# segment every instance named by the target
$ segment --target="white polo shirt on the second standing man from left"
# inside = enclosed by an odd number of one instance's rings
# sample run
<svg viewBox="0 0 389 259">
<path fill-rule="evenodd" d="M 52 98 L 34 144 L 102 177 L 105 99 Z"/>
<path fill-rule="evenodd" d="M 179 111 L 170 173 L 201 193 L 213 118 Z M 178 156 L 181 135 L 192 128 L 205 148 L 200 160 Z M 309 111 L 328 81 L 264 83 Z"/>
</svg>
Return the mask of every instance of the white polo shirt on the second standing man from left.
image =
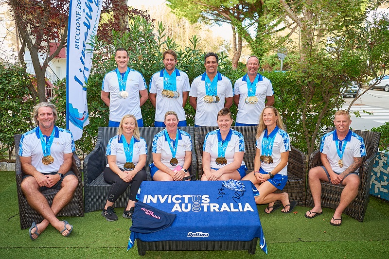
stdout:
<svg viewBox="0 0 389 259">
<path fill-rule="evenodd" d="M 165 113 L 167 111 L 175 111 L 178 116 L 179 121 L 185 121 L 185 111 L 182 107 L 182 92 L 189 92 L 189 78 L 188 75 L 176 69 L 176 86 L 177 92 L 179 93 L 178 98 L 168 98 L 162 96 L 163 91 L 163 71 L 165 69 L 160 70 L 155 73 L 150 79 L 150 93 L 157 94 L 156 107 L 155 107 L 155 121 L 164 121 Z"/>
</svg>

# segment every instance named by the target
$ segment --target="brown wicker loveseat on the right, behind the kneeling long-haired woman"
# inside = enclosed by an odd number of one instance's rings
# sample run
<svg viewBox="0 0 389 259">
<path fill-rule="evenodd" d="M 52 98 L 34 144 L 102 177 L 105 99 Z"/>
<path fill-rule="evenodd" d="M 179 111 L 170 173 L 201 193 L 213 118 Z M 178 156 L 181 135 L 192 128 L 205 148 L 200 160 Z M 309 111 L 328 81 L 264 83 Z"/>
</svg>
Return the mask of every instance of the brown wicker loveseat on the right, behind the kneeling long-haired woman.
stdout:
<svg viewBox="0 0 389 259">
<path fill-rule="evenodd" d="M 197 167 L 198 167 L 198 179 L 201 179 L 203 175 L 202 167 L 202 154 L 204 138 L 208 132 L 217 129 L 218 127 L 195 127 L 195 148 L 197 154 Z M 257 134 L 256 126 L 234 126 L 232 129 L 239 131 L 243 134 L 245 139 L 246 153 L 243 156 L 248 168 L 248 172 L 254 170 L 254 158 L 256 153 L 255 139 Z M 291 147 L 288 159 L 288 181 L 282 191 L 287 192 L 289 199 L 298 202 L 299 206 L 305 205 L 305 193 L 306 193 L 306 156 L 297 148 Z"/>
</svg>

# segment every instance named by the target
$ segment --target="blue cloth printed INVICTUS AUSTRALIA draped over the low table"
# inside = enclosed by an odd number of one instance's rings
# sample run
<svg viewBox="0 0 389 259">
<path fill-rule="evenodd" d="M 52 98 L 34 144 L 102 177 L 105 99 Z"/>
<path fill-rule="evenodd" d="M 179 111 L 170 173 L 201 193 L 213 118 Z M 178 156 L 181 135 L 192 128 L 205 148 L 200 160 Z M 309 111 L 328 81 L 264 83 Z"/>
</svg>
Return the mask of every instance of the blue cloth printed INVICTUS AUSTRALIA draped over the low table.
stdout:
<svg viewBox="0 0 389 259">
<path fill-rule="evenodd" d="M 137 238 L 154 242 L 251 241 L 258 237 L 267 254 L 254 200 L 254 191 L 258 193 L 258 190 L 250 181 L 240 182 L 245 185 L 245 191 L 230 190 L 223 186 L 223 181 L 143 181 L 139 201 L 177 216 L 173 224 L 154 233 L 131 231 L 128 249 Z M 142 210 L 153 215 L 153 220 L 159 217 L 158 213 Z M 134 217 L 133 220 L 133 224 L 139 224 Z"/>
</svg>

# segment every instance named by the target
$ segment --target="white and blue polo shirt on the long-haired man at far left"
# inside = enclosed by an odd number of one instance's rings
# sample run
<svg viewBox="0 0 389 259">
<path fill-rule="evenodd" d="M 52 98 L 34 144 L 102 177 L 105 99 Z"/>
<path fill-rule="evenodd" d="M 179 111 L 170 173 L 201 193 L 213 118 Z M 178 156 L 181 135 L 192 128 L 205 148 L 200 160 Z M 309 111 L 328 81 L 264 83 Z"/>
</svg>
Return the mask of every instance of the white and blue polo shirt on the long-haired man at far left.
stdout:
<svg viewBox="0 0 389 259">
<path fill-rule="evenodd" d="M 75 151 L 73 135 L 65 129 L 54 126 L 54 139 L 50 148 L 50 155 L 53 156 L 52 164 L 44 165 L 42 163 L 43 150 L 40 143 L 39 127 L 36 127 L 20 138 L 19 153 L 23 157 L 31 156 L 31 165 L 40 173 L 57 172 L 64 163 L 64 154 L 70 154 Z M 43 135 L 45 136 L 45 135 Z M 46 136 L 46 143 L 50 136 Z"/>
</svg>

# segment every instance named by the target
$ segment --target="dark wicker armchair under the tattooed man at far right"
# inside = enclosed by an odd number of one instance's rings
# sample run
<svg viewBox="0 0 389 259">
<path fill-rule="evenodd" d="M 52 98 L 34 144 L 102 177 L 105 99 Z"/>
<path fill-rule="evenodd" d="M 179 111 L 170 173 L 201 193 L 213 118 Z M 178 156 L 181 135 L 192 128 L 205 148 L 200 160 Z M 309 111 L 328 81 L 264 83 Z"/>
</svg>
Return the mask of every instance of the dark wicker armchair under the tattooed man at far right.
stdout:
<svg viewBox="0 0 389 259">
<path fill-rule="evenodd" d="M 326 133 L 331 132 L 333 130 L 335 130 L 334 127 L 328 127 Z M 366 146 L 366 156 L 363 157 L 362 165 L 359 168 L 359 177 L 361 178 L 361 185 L 359 187 L 358 194 L 343 212 L 349 215 L 350 217 L 353 217 L 357 221 L 362 222 L 365 217 L 366 209 L 369 203 L 371 170 L 375 156 L 377 154 L 378 143 L 380 140 L 381 133 L 361 130 L 353 130 L 353 132 L 363 138 Z M 321 165 L 322 164 L 320 160 L 320 152 L 319 150 L 316 150 L 309 157 L 308 169 Z M 340 194 L 342 193 L 343 189 L 344 186 L 342 185 L 321 182 L 321 207 L 336 209 L 336 207 L 339 205 Z M 314 206 L 312 193 L 309 189 L 309 185 L 307 187 L 306 206 Z"/>
</svg>

